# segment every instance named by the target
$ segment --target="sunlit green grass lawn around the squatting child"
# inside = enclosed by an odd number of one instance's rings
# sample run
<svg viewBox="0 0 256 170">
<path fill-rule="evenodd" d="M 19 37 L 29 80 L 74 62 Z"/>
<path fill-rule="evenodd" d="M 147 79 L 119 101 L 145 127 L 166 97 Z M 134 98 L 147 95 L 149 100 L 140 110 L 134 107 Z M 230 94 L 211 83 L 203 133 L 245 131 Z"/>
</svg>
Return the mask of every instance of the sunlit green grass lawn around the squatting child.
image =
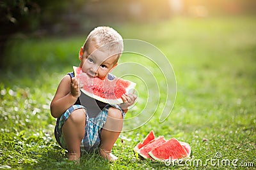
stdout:
<svg viewBox="0 0 256 170">
<path fill-rule="evenodd" d="M 83 155 L 79 165 L 68 162 L 65 150 L 54 139 L 55 120 L 49 104 L 61 77 L 78 65 L 77 52 L 86 35 L 15 39 L 6 53 L 6 69 L 0 74 L 0 168 L 255 169 L 255 18 L 172 18 L 152 25 L 115 28 L 124 38 L 152 43 L 170 60 L 177 79 L 177 97 L 166 121 L 159 123 L 161 110 L 157 110 L 143 127 L 122 132 L 123 139 L 118 138 L 113 148 L 119 157 L 115 163 L 97 154 Z M 148 63 L 148 67 L 154 70 L 155 65 Z M 138 89 L 137 107 L 127 114 L 136 115 L 143 110 L 143 101 L 151 97 L 140 86 Z M 166 96 L 163 91 L 160 94 L 163 103 Z M 152 104 L 146 113 L 152 114 L 156 107 Z M 186 141 L 191 145 L 193 159 L 203 164 L 221 152 L 221 159 L 238 159 L 238 166 L 251 162 L 253 167 L 218 166 L 218 162 L 216 166 L 210 162 L 206 166 L 165 166 L 142 160 L 132 148 L 150 130 L 156 136 Z"/>
</svg>

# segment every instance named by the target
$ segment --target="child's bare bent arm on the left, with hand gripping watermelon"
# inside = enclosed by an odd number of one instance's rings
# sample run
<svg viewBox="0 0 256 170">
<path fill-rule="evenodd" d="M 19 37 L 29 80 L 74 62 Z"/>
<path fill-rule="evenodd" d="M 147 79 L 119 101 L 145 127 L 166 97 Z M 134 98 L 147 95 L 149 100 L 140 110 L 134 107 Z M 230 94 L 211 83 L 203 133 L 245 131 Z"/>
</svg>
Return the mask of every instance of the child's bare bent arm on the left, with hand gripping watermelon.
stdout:
<svg viewBox="0 0 256 170">
<path fill-rule="evenodd" d="M 70 79 L 69 75 L 64 76 L 51 102 L 52 117 L 60 117 L 70 106 L 76 103 L 77 97 L 80 96 L 79 91 L 77 79 Z"/>
</svg>

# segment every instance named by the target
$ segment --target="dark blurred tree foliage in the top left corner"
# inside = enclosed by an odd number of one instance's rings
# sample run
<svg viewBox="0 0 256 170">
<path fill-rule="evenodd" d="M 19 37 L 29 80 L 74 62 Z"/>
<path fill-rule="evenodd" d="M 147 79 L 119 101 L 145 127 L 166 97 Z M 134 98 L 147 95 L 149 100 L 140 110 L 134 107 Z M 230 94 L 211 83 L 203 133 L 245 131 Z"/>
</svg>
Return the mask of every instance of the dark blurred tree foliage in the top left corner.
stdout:
<svg viewBox="0 0 256 170">
<path fill-rule="evenodd" d="M 70 4 L 79 8 L 83 0 L 1 0 L 0 1 L 0 67 L 8 39 L 17 32 L 32 32 L 42 23 L 51 25 L 60 20 L 61 11 Z"/>
</svg>

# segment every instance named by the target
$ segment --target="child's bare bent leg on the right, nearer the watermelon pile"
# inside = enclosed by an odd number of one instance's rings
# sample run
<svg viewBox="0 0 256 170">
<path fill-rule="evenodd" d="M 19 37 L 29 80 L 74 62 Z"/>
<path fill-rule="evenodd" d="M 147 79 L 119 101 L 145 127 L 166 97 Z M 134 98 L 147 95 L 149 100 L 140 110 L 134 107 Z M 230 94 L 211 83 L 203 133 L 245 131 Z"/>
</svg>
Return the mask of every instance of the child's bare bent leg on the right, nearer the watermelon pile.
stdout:
<svg viewBox="0 0 256 170">
<path fill-rule="evenodd" d="M 106 124 L 100 132 L 100 155 L 108 160 L 116 160 L 117 157 L 111 153 L 123 127 L 123 117 L 120 110 L 110 107 Z"/>
</svg>

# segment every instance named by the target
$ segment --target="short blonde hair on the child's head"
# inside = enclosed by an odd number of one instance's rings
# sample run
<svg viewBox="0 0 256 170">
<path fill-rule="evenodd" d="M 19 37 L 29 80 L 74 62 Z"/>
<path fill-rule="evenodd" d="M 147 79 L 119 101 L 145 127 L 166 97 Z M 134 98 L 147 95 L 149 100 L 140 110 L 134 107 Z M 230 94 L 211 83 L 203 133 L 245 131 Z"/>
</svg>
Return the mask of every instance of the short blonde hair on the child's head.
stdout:
<svg viewBox="0 0 256 170">
<path fill-rule="evenodd" d="M 93 43 L 100 51 L 118 54 L 118 57 L 124 50 L 122 36 L 111 27 L 100 26 L 93 29 L 86 38 L 83 51 L 88 51 L 90 43 Z"/>
</svg>

